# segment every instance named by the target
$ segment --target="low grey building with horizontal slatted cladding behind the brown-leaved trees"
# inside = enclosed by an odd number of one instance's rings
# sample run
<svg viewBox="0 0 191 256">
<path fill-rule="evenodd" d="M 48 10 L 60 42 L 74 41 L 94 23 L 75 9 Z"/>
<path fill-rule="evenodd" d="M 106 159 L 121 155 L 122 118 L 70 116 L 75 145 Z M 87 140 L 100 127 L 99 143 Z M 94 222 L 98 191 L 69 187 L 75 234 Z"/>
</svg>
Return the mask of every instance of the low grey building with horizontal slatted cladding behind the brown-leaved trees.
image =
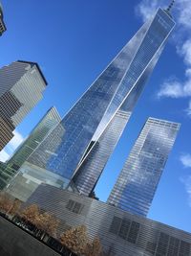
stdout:
<svg viewBox="0 0 191 256">
<path fill-rule="evenodd" d="M 191 256 L 191 234 L 116 206 L 42 184 L 27 201 L 52 213 L 59 231 L 84 224 L 110 256 Z"/>
</svg>

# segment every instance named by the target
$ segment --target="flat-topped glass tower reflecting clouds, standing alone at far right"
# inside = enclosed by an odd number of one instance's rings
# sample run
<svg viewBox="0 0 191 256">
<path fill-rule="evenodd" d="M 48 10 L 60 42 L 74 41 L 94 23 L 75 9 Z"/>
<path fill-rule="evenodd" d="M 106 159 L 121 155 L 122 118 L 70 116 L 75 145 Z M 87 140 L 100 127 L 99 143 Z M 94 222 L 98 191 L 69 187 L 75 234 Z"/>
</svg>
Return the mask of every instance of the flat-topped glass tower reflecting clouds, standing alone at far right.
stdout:
<svg viewBox="0 0 191 256">
<path fill-rule="evenodd" d="M 117 178 L 108 203 L 146 216 L 180 124 L 149 118 Z"/>
</svg>

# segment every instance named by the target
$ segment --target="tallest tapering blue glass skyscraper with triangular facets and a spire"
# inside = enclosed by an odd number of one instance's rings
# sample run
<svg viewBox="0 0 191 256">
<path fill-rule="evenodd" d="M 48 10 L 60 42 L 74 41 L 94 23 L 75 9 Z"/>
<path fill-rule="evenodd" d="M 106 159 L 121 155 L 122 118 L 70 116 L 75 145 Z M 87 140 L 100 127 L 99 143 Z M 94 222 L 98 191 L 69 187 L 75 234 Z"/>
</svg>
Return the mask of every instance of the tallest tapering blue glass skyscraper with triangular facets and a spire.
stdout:
<svg viewBox="0 0 191 256">
<path fill-rule="evenodd" d="M 105 128 L 109 128 L 108 124 L 117 110 L 138 86 L 138 82 L 148 77 L 151 63 L 159 57 L 174 26 L 171 15 L 159 9 L 154 18 L 145 23 L 111 61 L 28 161 L 63 177 L 63 187 L 66 187 L 88 154 L 87 151 L 91 151 L 91 146 L 95 145 L 94 141 L 98 140 Z M 63 132 L 59 132 L 60 128 Z"/>
</svg>

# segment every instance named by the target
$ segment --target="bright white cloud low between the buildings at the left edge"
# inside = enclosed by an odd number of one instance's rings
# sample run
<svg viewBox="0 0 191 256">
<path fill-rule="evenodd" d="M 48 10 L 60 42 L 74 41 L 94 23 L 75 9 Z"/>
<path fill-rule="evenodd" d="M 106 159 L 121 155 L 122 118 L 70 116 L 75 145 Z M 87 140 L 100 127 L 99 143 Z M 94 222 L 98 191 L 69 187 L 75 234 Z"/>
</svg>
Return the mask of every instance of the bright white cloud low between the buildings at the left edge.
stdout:
<svg viewBox="0 0 191 256">
<path fill-rule="evenodd" d="M 18 146 L 24 141 L 24 137 L 17 130 L 13 131 L 14 137 L 8 143 L 8 145 L 0 151 L 0 161 L 5 162 L 9 159 L 13 151 L 15 151 Z"/>
</svg>

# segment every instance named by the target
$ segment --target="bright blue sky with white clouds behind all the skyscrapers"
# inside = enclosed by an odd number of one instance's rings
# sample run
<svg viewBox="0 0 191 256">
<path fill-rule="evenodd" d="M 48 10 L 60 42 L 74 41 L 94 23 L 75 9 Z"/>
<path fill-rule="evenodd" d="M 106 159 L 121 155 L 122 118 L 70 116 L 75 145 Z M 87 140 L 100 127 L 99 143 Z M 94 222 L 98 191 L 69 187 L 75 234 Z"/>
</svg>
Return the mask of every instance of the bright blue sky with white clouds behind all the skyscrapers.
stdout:
<svg viewBox="0 0 191 256">
<path fill-rule="evenodd" d="M 96 195 L 106 200 L 149 116 L 180 122 L 181 128 L 159 182 L 149 218 L 191 232 L 191 3 L 177 0 L 177 27 L 159 59 Z M 49 83 L 44 99 L 1 152 L 5 159 L 44 113 L 61 116 L 96 79 L 142 22 L 167 0 L 2 0 L 8 31 L 0 38 L 0 66 L 17 59 L 39 63 Z"/>
</svg>

